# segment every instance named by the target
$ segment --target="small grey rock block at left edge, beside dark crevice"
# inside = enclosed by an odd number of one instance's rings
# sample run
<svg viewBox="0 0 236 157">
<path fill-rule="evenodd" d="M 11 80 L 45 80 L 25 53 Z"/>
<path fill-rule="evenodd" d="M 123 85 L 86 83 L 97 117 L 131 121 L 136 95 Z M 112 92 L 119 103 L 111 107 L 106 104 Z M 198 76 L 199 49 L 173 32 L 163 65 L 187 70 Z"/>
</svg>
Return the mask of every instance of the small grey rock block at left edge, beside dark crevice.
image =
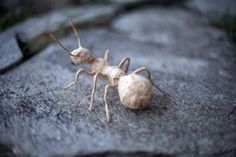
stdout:
<svg viewBox="0 0 236 157">
<path fill-rule="evenodd" d="M 0 36 L 0 43 L 0 73 L 3 73 L 22 59 L 22 53 L 15 38 Z"/>
</svg>

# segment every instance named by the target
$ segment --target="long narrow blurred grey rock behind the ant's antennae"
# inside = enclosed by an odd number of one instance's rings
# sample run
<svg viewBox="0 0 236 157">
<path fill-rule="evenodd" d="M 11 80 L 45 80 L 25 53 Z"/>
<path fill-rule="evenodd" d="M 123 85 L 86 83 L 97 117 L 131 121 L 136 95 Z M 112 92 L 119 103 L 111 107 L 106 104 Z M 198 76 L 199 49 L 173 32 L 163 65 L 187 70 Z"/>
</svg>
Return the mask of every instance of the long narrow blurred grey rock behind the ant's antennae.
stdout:
<svg viewBox="0 0 236 157">
<path fill-rule="evenodd" d="M 37 52 L 47 45 L 52 39 L 48 33 L 53 32 L 65 35 L 71 31 L 69 17 L 76 26 L 87 27 L 105 23 L 114 16 L 115 6 L 83 5 L 80 7 L 67 7 L 49 12 L 46 15 L 32 17 L 21 24 L 9 28 L 1 35 L 18 35 L 19 40 L 27 45 L 27 51 Z"/>
</svg>

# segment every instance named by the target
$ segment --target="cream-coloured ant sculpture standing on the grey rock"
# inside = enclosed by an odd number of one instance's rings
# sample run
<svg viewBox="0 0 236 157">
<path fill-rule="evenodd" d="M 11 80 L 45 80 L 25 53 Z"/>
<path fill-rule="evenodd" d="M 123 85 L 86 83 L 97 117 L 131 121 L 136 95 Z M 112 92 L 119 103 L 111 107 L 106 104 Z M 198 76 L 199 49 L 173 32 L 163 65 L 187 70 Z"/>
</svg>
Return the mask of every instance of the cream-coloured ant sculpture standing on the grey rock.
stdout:
<svg viewBox="0 0 236 157">
<path fill-rule="evenodd" d="M 92 109 L 94 96 L 97 87 L 97 81 L 99 78 L 103 80 L 108 80 L 109 84 L 105 86 L 104 91 L 104 103 L 105 103 L 105 111 L 106 111 L 106 119 L 110 121 L 110 115 L 108 110 L 108 103 L 107 103 L 107 94 L 110 88 L 118 88 L 118 93 L 120 96 L 121 103 L 130 109 L 143 109 L 146 108 L 152 99 L 153 95 L 153 87 L 158 89 L 161 93 L 165 94 L 159 86 L 155 85 L 152 77 L 151 72 L 146 67 L 140 67 L 133 71 L 132 73 L 128 74 L 128 69 L 130 65 L 130 58 L 124 58 L 118 66 L 111 66 L 108 64 L 108 56 L 109 51 L 105 51 L 105 55 L 103 58 L 96 58 L 90 50 L 87 48 L 83 48 L 80 43 L 79 33 L 77 32 L 72 19 L 70 18 L 70 24 L 73 28 L 73 31 L 78 40 L 78 48 L 74 49 L 70 52 L 66 49 L 53 35 L 50 33 L 52 39 L 54 39 L 59 46 L 65 50 L 66 53 L 70 55 L 71 60 L 75 64 L 90 64 L 91 71 L 86 69 L 79 69 L 76 72 L 75 80 L 68 84 L 63 89 L 68 89 L 69 87 L 75 85 L 78 80 L 79 76 L 84 73 L 89 76 L 93 76 L 93 90 L 91 96 L 91 102 L 89 106 L 89 110 Z M 146 73 L 146 78 L 138 75 L 140 72 Z"/>
</svg>

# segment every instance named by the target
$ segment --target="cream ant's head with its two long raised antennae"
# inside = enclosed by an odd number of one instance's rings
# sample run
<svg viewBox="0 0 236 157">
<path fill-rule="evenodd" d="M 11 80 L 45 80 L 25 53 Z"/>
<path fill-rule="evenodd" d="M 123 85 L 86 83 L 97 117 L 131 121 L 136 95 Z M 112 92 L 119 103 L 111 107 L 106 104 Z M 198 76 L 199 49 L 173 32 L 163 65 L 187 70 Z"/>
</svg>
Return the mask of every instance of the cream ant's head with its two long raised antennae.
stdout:
<svg viewBox="0 0 236 157">
<path fill-rule="evenodd" d="M 75 35 L 78 39 L 79 48 L 74 49 L 72 52 L 70 52 L 52 35 L 52 33 L 50 33 L 51 38 L 54 39 L 60 45 L 60 47 L 63 48 L 65 50 L 65 52 L 70 55 L 72 62 L 74 62 L 75 64 L 91 63 L 92 61 L 95 60 L 95 57 L 92 55 L 92 53 L 88 49 L 83 48 L 81 46 L 79 34 L 76 31 L 71 18 L 70 18 L 70 22 L 71 22 L 71 26 L 75 32 Z"/>
</svg>

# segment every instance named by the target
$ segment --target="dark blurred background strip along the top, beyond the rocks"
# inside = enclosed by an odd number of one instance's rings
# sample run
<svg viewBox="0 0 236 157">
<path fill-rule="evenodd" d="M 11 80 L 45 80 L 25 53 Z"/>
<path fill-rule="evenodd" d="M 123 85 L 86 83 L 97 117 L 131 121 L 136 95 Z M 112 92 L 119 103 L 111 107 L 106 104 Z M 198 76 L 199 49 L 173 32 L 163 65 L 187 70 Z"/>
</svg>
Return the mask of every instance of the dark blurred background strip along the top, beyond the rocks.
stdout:
<svg viewBox="0 0 236 157">
<path fill-rule="evenodd" d="M 214 0 L 1 0 L 0 4 L 0 30 L 22 22 L 29 17 L 46 14 L 55 9 L 62 9 L 68 6 L 80 5 L 118 5 L 124 10 L 129 10 L 144 5 L 181 5 L 191 8 L 207 15 L 215 26 L 228 31 L 231 39 L 235 41 L 235 1 L 214 1 Z"/>
</svg>

